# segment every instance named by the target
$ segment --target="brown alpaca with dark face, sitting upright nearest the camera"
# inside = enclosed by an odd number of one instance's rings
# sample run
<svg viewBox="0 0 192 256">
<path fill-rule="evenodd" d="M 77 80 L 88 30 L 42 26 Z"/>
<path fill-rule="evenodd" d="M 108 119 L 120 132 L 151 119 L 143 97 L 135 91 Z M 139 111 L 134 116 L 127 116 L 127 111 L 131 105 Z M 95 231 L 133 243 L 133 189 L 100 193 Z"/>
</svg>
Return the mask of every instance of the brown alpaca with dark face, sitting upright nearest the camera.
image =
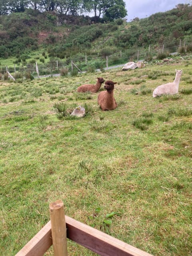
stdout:
<svg viewBox="0 0 192 256">
<path fill-rule="evenodd" d="M 98 104 L 103 111 L 113 110 L 117 107 L 117 103 L 113 96 L 114 84 L 116 83 L 113 81 L 106 81 L 104 85 L 106 91 L 100 92 L 98 95 Z"/>
</svg>

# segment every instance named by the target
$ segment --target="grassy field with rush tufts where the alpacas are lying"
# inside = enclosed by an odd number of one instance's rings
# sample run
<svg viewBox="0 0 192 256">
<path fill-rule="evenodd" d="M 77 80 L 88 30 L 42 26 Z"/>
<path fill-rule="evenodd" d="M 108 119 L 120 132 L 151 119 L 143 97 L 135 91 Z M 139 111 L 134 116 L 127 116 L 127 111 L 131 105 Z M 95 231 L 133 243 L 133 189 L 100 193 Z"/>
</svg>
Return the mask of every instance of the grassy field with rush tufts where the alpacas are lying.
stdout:
<svg viewBox="0 0 192 256">
<path fill-rule="evenodd" d="M 183 70 L 178 95 L 153 98 L 175 69 Z M 49 204 L 58 199 L 66 215 L 141 250 L 192 255 L 191 70 L 192 60 L 181 59 L 125 72 L 0 81 L 0 255 L 14 256 L 48 222 Z M 118 82 L 113 111 L 100 110 L 98 93 L 76 93 L 98 76 Z M 70 117 L 79 105 L 86 116 Z M 68 250 L 96 255 L 70 241 Z"/>
</svg>

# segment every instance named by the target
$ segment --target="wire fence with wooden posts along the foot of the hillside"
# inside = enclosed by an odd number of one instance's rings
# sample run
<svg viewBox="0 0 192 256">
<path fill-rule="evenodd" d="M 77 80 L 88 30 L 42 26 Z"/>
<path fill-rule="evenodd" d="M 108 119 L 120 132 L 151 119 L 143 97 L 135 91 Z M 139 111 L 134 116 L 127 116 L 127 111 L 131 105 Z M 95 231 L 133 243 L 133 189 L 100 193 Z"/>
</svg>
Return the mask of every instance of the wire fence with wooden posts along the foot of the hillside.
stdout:
<svg viewBox="0 0 192 256">
<path fill-rule="evenodd" d="M 164 56 L 169 56 L 169 54 L 177 54 L 178 52 L 183 50 L 183 53 L 186 52 L 187 47 L 191 45 L 192 48 L 192 40 L 179 41 L 177 45 L 162 44 L 156 48 L 149 45 L 148 48 L 134 48 L 128 50 L 120 50 L 119 52 L 114 52 L 110 55 L 101 56 L 98 53 L 87 55 L 87 54 L 79 54 L 78 56 L 73 56 L 67 60 L 52 60 L 48 63 L 38 63 L 38 71 L 37 64 L 35 63 L 27 63 L 12 66 L 0 66 L 0 74 L 5 74 L 6 72 L 10 72 L 11 74 L 21 73 L 24 74 L 26 72 L 30 72 L 32 75 L 36 76 L 37 73 L 40 76 L 48 75 L 48 74 L 58 74 L 61 72 L 63 68 L 68 68 L 68 70 L 73 70 L 73 64 L 76 64 L 76 67 L 80 70 L 87 70 L 92 67 L 94 69 L 102 69 L 108 68 L 109 66 L 114 66 L 118 64 L 125 64 L 129 61 L 137 62 L 138 60 L 150 60 L 150 58 L 154 58 L 158 54 L 164 54 Z"/>
</svg>

